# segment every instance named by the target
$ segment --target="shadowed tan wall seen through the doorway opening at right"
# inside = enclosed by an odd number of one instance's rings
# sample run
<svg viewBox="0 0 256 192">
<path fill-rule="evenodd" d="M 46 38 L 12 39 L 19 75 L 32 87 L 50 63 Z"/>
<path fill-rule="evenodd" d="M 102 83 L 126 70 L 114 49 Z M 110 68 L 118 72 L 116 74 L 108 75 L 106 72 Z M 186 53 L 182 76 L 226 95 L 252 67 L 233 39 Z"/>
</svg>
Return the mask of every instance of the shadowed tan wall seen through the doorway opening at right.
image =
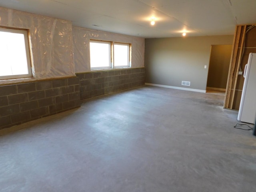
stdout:
<svg viewBox="0 0 256 192">
<path fill-rule="evenodd" d="M 207 87 L 226 89 L 232 45 L 212 45 Z"/>
</svg>

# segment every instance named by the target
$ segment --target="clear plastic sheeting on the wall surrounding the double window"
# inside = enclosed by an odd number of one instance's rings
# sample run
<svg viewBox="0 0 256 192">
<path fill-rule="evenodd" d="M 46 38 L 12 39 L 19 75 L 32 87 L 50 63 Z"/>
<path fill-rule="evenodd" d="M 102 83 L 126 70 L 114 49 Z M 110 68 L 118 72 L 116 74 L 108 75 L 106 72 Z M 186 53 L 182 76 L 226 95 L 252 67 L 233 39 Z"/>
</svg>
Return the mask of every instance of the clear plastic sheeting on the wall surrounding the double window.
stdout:
<svg viewBox="0 0 256 192">
<path fill-rule="evenodd" d="M 144 67 L 144 38 L 73 26 L 75 72 L 90 71 L 90 39 L 132 44 L 132 68 Z"/>
</svg>

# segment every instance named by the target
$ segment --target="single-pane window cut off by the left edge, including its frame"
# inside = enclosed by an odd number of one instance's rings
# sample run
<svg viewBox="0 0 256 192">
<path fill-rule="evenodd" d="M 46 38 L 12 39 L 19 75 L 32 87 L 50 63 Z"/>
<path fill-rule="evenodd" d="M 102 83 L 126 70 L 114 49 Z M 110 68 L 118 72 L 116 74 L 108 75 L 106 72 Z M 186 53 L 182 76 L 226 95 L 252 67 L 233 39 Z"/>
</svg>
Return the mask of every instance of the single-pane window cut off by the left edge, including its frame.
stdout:
<svg viewBox="0 0 256 192">
<path fill-rule="evenodd" d="M 28 33 L 0 28 L 0 80 L 31 77 Z"/>
</svg>

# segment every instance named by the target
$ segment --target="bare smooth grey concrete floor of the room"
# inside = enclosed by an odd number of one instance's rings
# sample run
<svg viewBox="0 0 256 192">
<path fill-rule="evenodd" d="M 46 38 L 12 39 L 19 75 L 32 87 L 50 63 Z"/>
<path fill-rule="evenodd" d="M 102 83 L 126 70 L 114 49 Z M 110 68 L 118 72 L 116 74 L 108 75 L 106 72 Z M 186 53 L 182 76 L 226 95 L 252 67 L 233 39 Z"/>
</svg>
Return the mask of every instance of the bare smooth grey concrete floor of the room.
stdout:
<svg viewBox="0 0 256 192">
<path fill-rule="evenodd" d="M 252 192 L 256 137 L 223 100 L 142 86 L 2 130 L 0 192 Z"/>
</svg>

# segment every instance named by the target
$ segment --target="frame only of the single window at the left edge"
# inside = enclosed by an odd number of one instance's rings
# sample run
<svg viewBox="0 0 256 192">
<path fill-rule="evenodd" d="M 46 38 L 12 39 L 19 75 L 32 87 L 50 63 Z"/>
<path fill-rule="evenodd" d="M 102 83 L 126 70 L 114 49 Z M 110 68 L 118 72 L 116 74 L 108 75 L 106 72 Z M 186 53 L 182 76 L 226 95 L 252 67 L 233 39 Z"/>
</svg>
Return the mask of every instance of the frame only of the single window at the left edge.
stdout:
<svg viewBox="0 0 256 192">
<path fill-rule="evenodd" d="M 0 80 L 32 77 L 32 67 L 31 67 L 31 60 L 30 60 L 30 48 L 29 48 L 29 42 L 28 42 L 28 30 L 0 27 L 0 31 L 1 32 L 16 33 L 16 34 L 23 34 L 24 35 L 24 42 L 25 42 L 25 49 L 26 49 L 26 59 L 27 59 L 27 67 L 28 67 L 28 74 L 0 76 Z"/>
</svg>

